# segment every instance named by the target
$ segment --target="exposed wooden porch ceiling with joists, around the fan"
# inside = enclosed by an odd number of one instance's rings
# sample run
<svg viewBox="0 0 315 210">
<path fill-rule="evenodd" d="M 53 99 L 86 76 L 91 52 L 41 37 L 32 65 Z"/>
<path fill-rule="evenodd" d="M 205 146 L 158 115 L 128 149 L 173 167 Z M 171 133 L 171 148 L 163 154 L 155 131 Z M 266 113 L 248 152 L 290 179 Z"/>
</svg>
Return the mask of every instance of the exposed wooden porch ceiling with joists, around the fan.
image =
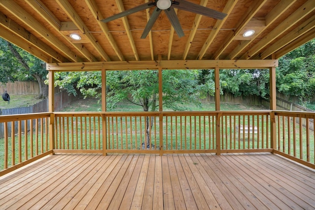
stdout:
<svg viewBox="0 0 315 210">
<path fill-rule="evenodd" d="M 162 12 L 140 39 L 154 7 L 100 21 L 148 1 L 0 0 L 0 36 L 45 62 L 278 59 L 315 38 L 315 0 L 188 0 L 227 16 L 178 9 L 182 38 Z"/>
</svg>

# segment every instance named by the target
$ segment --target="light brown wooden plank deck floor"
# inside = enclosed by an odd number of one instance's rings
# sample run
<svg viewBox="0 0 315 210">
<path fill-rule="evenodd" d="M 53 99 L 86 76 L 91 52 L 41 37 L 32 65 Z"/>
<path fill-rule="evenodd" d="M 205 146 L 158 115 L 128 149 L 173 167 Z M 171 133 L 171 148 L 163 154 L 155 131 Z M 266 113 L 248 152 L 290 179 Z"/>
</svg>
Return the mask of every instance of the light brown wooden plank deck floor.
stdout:
<svg viewBox="0 0 315 210">
<path fill-rule="evenodd" d="M 315 171 L 263 154 L 57 154 L 0 178 L 0 209 L 314 209 Z"/>
</svg>

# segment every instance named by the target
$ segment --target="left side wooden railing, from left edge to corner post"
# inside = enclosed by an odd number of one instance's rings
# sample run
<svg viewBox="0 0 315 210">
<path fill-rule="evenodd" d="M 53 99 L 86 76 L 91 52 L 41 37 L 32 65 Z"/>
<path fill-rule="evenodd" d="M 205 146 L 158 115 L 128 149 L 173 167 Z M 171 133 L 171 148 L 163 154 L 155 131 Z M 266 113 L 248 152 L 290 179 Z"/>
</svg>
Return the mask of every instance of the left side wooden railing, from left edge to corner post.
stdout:
<svg viewBox="0 0 315 210">
<path fill-rule="evenodd" d="M 0 170 L 5 173 L 52 153 L 49 146 L 50 113 L 0 117 Z M 0 172 L 2 175 L 2 172 Z"/>
</svg>

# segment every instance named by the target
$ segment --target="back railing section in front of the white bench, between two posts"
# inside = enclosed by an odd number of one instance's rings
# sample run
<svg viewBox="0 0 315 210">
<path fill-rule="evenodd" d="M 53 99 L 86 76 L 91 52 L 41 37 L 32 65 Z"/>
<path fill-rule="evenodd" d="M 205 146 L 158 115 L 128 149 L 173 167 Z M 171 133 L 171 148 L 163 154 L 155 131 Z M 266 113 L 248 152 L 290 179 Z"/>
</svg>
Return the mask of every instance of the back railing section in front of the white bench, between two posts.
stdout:
<svg viewBox="0 0 315 210">
<path fill-rule="evenodd" d="M 223 112 L 221 152 L 271 151 L 269 113 Z"/>
</svg>

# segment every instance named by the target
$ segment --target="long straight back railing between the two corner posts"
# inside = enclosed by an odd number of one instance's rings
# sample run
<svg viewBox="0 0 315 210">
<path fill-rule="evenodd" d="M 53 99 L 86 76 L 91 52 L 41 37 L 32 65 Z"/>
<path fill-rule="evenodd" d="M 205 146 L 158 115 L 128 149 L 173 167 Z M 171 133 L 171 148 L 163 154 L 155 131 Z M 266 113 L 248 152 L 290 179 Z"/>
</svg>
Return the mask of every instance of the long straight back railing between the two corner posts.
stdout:
<svg viewBox="0 0 315 210">
<path fill-rule="evenodd" d="M 268 120 L 269 111 L 55 113 L 55 151 L 272 151 Z"/>
</svg>

